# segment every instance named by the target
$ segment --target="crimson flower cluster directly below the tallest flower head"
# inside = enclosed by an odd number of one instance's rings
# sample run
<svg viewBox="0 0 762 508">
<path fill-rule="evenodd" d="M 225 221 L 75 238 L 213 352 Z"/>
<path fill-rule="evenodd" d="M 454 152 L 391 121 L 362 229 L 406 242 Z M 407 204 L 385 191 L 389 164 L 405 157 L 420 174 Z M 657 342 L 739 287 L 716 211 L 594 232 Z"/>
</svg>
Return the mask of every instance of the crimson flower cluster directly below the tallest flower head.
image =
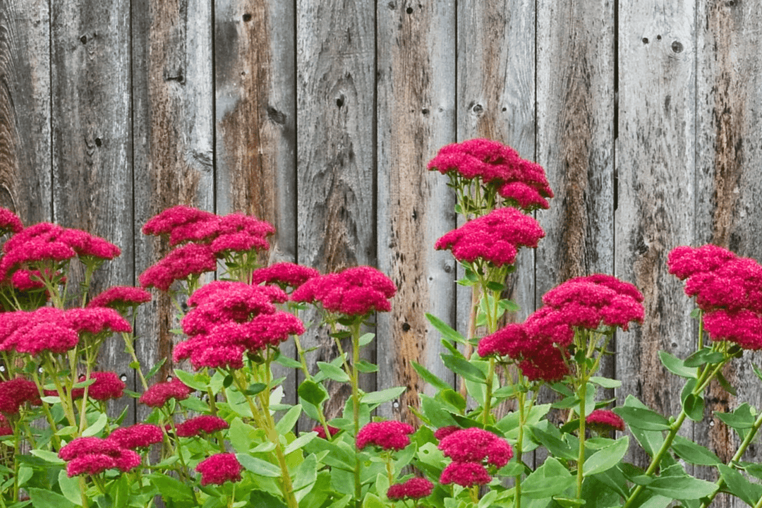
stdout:
<svg viewBox="0 0 762 508">
<path fill-rule="evenodd" d="M 533 217 L 514 208 L 498 208 L 446 233 L 434 248 L 450 249 L 459 261 L 482 259 L 501 267 L 514 263 L 518 248 L 536 248 L 543 236 L 543 228 Z"/>
</svg>

